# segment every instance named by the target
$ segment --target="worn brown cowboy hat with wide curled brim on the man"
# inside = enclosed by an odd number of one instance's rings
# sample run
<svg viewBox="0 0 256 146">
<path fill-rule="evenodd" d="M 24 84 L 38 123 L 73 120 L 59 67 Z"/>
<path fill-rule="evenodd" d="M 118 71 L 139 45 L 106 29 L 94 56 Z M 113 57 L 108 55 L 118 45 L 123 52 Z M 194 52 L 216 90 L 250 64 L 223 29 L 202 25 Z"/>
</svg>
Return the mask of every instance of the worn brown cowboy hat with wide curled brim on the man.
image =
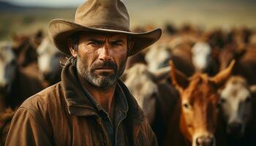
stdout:
<svg viewBox="0 0 256 146">
<path fill-rule="evenodd" d="M 55 19 L 48 28 L 53 44 L 67 55 L 71 55 L 67 39 L 78 31 L 127 34 L 134 42 L 128 55 L 154 44 L 162 34 L 160 28 L 143 33 L 129 31 L 129 14 L 120 0 L 88 0 L 78 7 L 74 22 Z"/>
</svg>

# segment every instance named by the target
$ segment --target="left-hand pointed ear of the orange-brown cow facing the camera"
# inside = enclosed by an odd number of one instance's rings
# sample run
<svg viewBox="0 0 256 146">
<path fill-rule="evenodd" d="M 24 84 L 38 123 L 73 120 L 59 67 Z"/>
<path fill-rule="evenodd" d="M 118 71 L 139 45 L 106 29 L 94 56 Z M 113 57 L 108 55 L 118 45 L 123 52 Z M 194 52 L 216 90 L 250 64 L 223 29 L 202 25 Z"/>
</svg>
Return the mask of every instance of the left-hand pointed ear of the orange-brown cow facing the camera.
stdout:
<svg viewBox="0 0 256 146">
<path fill-rule="evenodd" d="M 184 90 L 189 85 L 189 80 L 185 74 L 176 70 L 173 61 L 169 62 L 170 66 L 170 79 L 173 85 L 175 85 L 178 90 Z"/>
</svg>

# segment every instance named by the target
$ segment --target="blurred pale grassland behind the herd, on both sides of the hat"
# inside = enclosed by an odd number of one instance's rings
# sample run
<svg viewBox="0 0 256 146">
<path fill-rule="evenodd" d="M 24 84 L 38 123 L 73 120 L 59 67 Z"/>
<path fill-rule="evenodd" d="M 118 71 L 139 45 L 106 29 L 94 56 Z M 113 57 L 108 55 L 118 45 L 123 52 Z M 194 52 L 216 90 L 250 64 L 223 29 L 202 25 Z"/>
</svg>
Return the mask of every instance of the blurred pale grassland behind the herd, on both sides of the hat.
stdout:
<svg viewBox="0 0 256 146">
<path fill-rule="evenodd" d="M 192 23 L 203 28 L 247 26 L 256 29 L 256 3 L 210 0 L 126 0 L 132 27 L 154 24 L 162 27 L 166 22 L 180 26 Z M 54 18 L 73 20 L 75 8 L 40 8 L 0 10 L 0 39 L 12 34 L 29 34 L 42 29 Z"/>
</svg>

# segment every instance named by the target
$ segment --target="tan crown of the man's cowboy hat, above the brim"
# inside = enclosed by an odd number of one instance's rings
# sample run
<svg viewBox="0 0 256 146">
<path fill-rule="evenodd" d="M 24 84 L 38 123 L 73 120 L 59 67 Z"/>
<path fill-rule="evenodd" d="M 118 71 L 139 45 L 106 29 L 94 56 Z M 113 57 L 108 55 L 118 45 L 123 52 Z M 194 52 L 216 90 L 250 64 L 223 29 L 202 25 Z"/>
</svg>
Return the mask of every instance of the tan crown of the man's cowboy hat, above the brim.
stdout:
<svg viewBox="0 0 256 146">
<path fill-rule="evenodd" d="M 129 14 L 120 0 L 88 0 L 75 12 L 75 23 L 91 28 L 129 31 Z"/>
</svg>

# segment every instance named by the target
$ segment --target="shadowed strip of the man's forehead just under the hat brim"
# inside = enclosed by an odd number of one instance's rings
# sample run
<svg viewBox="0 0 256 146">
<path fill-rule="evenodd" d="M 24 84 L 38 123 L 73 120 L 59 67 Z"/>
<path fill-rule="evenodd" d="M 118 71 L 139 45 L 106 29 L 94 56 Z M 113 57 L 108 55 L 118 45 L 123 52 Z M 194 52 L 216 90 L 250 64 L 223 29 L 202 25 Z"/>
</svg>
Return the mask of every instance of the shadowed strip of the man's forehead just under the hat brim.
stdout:
<svg viewBox="0 0 256 146">
<path fill-rule="evenodd" d="M 81 32 L 79 34 L 80 40 L 89 40 L 89 39 L 121 39 L 127 40 L 127 34 L 119 33 L 102 33 L 102 32 Z"/>
</svg>

